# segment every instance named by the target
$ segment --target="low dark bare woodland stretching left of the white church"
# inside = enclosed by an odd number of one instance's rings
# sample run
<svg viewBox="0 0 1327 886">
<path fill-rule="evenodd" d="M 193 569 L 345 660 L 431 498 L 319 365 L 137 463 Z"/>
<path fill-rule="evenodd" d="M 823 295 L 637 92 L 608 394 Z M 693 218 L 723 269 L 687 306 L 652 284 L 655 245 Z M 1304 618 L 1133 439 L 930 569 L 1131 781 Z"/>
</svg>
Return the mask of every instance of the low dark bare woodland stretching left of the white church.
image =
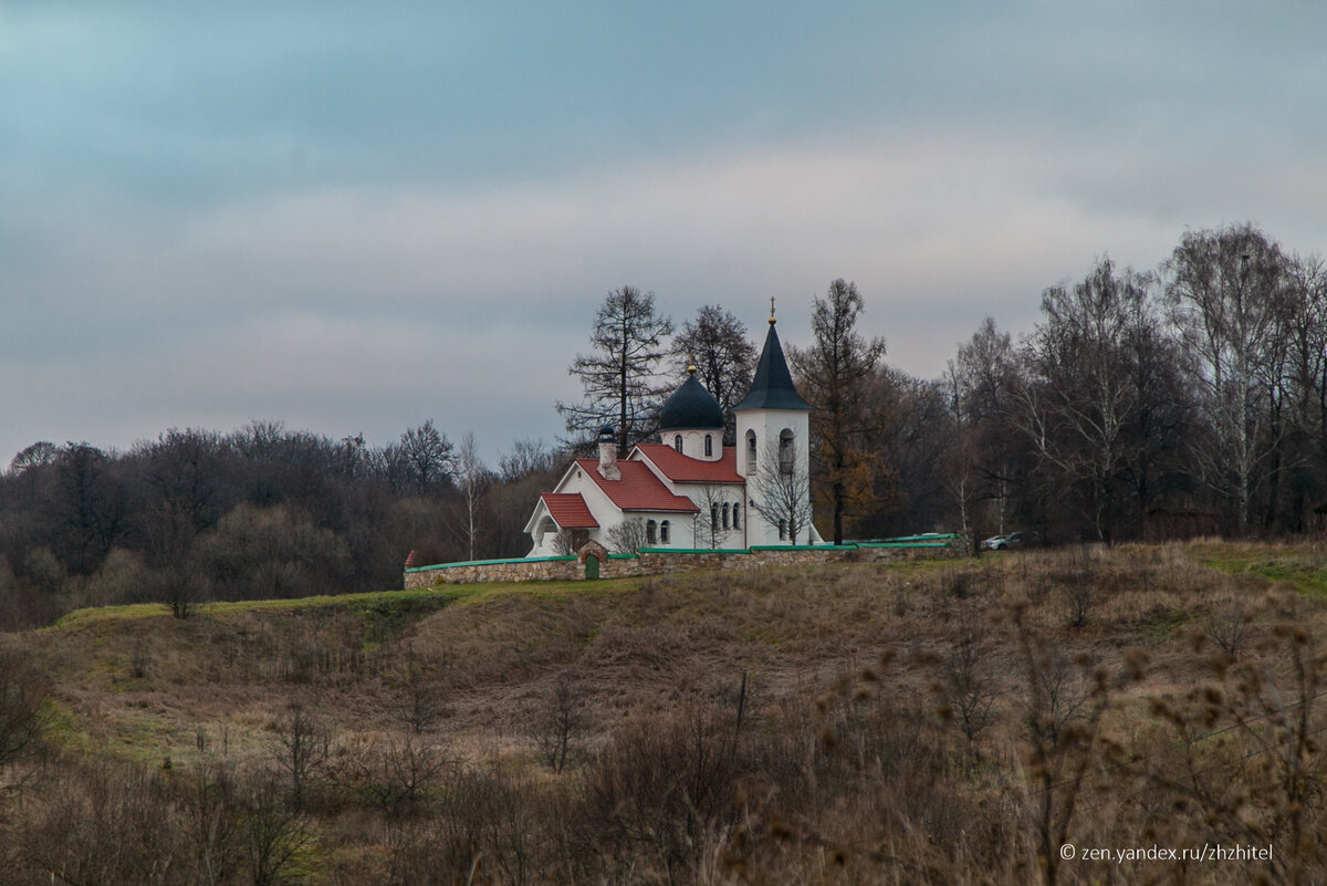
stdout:
<svg viewBox="0 0 1327 886">
<path fill-rule="evenodd" d="M 89 605 L 395 588 L 425 562 L 523 554 L 555 456 L 486 466 L 434 422 L 382 447 L 252 422 L 173 428 L 126 452 L 35 443 L 0 476 L 0 626 Z"/>
</svg>

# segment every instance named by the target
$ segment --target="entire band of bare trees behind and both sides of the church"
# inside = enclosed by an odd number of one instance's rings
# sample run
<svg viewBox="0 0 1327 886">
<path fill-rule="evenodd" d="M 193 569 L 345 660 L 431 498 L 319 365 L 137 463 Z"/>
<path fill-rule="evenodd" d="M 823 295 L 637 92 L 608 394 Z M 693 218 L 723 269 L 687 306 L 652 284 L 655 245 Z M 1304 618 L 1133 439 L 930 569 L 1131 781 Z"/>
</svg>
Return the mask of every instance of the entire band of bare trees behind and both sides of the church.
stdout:
<svg viewBox="0 0 1327 886">
<path fill-rule="evenodd" d="M 1324 519 L 1327 268 L 1251 224 L 1190 231 L 1152 271 L 1103 256 L 1048 286 L 1016 341 L 986 318 L 938 379 L 885 362 L 884 340 L 859 330 L 864 309 L 835 280 L 812 298 L 811 342 L 787 349 L 815 407 L 816 523 L 836 541 L 1266 536 Z M 421 564 L 523 556 L 539 493 L 602 424 L 624 454 L 657 434 L 689 366 L 727 411 L 758 355 L 722 306 L 678 329 L 636 286 L 608 293 L 589 344 L 569 366 L 584 398 L 556 405 L 567 436 L 518 442 L 496 467 L 433 420 L 384 447 L 280 422 L 173 428 L 126 452 L 35 443 L 0 476 L 0 625 L 391 588 L 410 550 Z"/>
</svg>

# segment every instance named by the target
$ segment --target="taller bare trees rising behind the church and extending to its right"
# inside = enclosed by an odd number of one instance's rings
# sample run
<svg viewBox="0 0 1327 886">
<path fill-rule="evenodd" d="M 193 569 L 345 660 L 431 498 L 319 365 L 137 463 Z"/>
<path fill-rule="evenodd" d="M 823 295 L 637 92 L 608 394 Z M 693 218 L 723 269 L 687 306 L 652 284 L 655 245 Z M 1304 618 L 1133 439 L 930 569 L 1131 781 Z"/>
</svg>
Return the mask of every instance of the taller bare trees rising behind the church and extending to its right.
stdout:
<svg viewBox="0 0 1327 886">
<path fill-rule="evenodd" d="M 811 308 L 811 342 L 787 350 L 815 407 L 811 487 L 835 541 L 1269 536 L 1327 516 L 1327 268 L 1253 224 L 1189 231 L 1151 271 L 1103 256 L 1046 288 L 1018 340 L 983 320 L 938 379 L 885 362 L 853 283 Z M 711 305 L 670 345 L 671 332 L 653 293 L 608 294 L 569 366 L 585 399 L 559 403 L 565 448 L 604 422 L 622 454 L 648 439 L 689 362 L 731 409 L 756 354 L 746 328 Z"/>
</svg>

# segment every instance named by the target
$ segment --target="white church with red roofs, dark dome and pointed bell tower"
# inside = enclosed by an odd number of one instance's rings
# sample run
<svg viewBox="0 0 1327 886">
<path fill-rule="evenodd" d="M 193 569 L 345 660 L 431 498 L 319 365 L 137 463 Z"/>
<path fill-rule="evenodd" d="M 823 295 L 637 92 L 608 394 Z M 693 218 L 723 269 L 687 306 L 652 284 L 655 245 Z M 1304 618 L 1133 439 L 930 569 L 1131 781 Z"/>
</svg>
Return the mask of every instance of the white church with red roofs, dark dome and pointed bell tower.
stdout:
<svg viewBox="0 0 1327 886">
<path fill-rule="evenodd" d="M 618 553 L 823 544 L 811 521 L 811 406 L 792 385 L 772 312 L 751 390 L 733 409 L 736 446 L 723 444 L 723 410 L 687 371 L 660 411 L 658 443 L 618 459 L 604 427 L 598 459 L 576 459 L 539 497 L 527 557 L 591 541 Z"/>
</svg>

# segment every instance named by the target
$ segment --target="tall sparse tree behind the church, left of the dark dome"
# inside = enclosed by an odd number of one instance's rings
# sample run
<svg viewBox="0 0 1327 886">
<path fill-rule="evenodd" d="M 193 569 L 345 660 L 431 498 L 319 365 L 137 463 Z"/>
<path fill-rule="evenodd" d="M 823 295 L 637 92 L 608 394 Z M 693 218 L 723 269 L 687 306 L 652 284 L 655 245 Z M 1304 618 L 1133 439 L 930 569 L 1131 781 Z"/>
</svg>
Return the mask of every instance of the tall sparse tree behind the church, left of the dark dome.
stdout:
<svg viewBox="0 0 1327 886">
<path fill-rule="evenodd" d="M 577 354 L 568 367 L 580 379 L 585 402 L 557 403 L 573 442 L 592 439 L 616 416 L 618 455 L 626 455 L 658 411 L 656 370 L 671 334 L 673 321 L 654 309 L 654 293 L 636 286 L 608 293 L 594 316 L 591 353 Z"/>
</svg>

